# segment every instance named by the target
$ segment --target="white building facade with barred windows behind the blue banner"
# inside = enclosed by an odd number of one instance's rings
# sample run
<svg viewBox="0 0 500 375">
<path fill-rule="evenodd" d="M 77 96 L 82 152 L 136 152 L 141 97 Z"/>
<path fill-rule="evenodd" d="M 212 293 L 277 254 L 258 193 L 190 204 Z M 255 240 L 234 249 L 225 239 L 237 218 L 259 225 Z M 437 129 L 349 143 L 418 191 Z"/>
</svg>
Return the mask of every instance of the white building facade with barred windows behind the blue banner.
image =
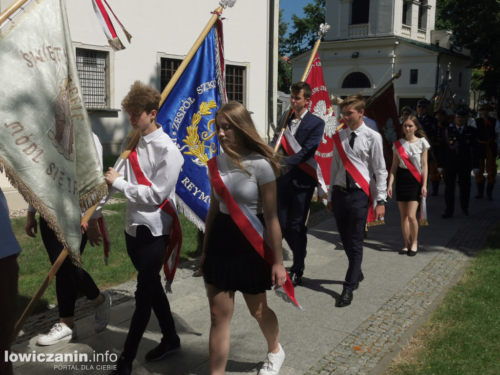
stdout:
<svg viewBox="0 0 500 375">
<path fill-rule="evenodd" d="M 13 0 L 0 0 L 3 12 Z M 67 15 L 85 104 L 92 130 L 103 145 L 104 155 L 119 154 L 121 142 L 131 129 L 120 102 L 135 80 L 159 91 L 173 75 L 202 29 L 218 0 L 108 0 L 125 29 L 113 24 L 125 49 L 113 51 L 107 43 L 91 1 L 66 0 Z M 25 6 L 28 9 L 31 4 Z M 273 134 L 277 97 L 278 0 L 236 1 L 223 10 L 226 90 L 229 100 L 243 103 L 252 112 L 258 132 Z M 1 32 L 5 32 L 6 24 Z M 83 67 L 80 67 L 80 64 Z M 0 174 L 0 186 L 11 189 Z M 7 193 L 6 193 L 7 195 Z M 17 209 L 17 204 L 10 209 Z M 21 208 L 25 208 L 22 201 Z"/>
</svg>

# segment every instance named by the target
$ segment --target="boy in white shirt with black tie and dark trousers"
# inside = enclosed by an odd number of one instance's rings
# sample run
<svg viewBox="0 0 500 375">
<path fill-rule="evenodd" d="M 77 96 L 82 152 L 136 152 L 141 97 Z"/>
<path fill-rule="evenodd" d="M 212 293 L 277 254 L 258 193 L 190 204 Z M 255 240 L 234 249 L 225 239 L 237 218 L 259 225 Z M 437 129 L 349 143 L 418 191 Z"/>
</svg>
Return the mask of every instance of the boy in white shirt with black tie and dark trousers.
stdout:
<svg viewBox="0 0 500 375">
<path fill-rule="evenodd" d="M 373 174 L 376 176 L 376 206 L 374 208 L 374 219 L 382 219 L 385 213 L 385 199 L 387 198 L 387 170 L 383 159 L 382 137 L 376 131 L 368 128 L 363 122 L 364 100 L 361 95 L 347 97 L 340 104 L 342 117 L 347 127 L 346 131 L 347 152 L 354 151 L 352 157 L 357 161 L 359 168 L 364 169 L 366 176 L 373 183 Z M 334 136 L 339 136 L 337 133 Z M 344 133 L 342 134 L 344 135 Z M 343 146 L 342 142 L 342 146 Z M 357 289 L 359 282 L 364 276 L 361 272 L 361 261 L 363 258 L 363 230 L 368 213 L 368 195 L 362 189 L 361 184 L 367 183 L 361 179 L 354 179 L 347 173 L 345 162 L 341 159 L 339 152 L 346 155 L 347 152 L 338 150 L 335 144 L 331 158 L 330 189 L 328 192 L 328 203 L 326 209 L 335 216 L 340 239 L 344 246 L 345 254 L 349 259 L 349 266 L 345 274 L 343 290 L 336 303 L 338 307 L 347 306 L 352 301 L 352 291 Z M 346 160 L 348 161 L 348 160 Z M 354 164 L 355 165 L 355 164 Z M 359 173 L 363 173 L 358 169 Z M 362 177 L 361 177 L 362 178 Z M 361 184 L 360 184 L 361 182 Z M 364 183 L 363 183 L 364 182 Z M 375 198 L 375 197 L 373 197 Z"/>
</svg>

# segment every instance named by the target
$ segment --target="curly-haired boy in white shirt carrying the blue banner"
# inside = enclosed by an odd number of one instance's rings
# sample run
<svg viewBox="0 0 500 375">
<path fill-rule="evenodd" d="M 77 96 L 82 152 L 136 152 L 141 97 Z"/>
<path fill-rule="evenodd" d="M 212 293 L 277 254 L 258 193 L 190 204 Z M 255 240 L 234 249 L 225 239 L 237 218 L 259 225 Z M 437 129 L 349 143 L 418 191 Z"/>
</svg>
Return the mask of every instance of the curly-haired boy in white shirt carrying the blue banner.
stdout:
<svg viewBox="0 0 500 375">
<path fill-rule="evenodd" d="M 123 352 L 112 375 L 128 375 L 131 372 L 151 309 L 158 319 L 163 337 L 159 345 L 145 354 L 145 358 L 158 360 L 180 349 L 180 339 L 159 275 L 173 217 L 166 214 L 160 205 L 166 199 L 169 201 L 166 204 L 175 202 L 175 184 L 183 158 L 170 137 L 156 124 L 160 98 L 154 88 L 139 81 L 133 83 L 121 105 L 128 113 L 132 128 L 140 132 L 140 139 L 124 167 L 120 171 L 109 168 L 104 177 L 112 187 L 109 195 L 117 190 L 128 199 L 125 241 L 130 260 L 138 271 L 135 311 Z M 125 175 L 128 180 L 123 178 Z M 147 181 L 146 184 L 144 181 Z"/>
</svg>

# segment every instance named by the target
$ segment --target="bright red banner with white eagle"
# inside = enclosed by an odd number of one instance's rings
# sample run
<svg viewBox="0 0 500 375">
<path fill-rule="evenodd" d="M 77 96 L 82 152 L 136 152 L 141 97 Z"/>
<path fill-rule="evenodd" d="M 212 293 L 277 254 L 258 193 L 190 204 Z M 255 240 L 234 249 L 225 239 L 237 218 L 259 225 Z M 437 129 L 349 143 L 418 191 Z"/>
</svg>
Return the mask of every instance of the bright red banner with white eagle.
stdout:
<svg viewBox="0 0 500 375">
<path fill-rule="evenodd" d="M 323 70 L 319 56 L 314 56 L 311 68 L 305 79 L 311 86 L 312 95 L 307 109 L 312 114 L 323 119 L 325 122 L 324 134 L 319 146 L 317 147 L 314 158 L 316 159 L 321 174 L 323 175 L 326 186 L 330 183 L 330 163 L 333 155 L 333 138 L 332 135 L 336 132 L 337 121 L 333 113 L 333 107 L 330 102 L 328 90 L 324 84 Z"/>
</svg>

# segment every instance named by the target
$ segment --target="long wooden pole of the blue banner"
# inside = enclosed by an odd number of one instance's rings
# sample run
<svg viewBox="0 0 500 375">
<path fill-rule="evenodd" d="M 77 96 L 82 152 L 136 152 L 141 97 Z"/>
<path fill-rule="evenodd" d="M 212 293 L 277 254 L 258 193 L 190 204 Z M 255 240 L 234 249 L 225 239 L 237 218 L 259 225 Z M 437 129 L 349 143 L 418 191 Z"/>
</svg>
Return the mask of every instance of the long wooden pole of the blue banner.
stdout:
<svg viewBox="0 0 500 375">
<path fill-rule="evenodd" d="M 20 4 L 17 7 L 15 7 L 12 10 L 12 12 L 14 12 L 15 9 L 17 9 L 23 2 L 25 2 L 25 0 L 17 1 L 16 3 L 20 3 Z M 226 2 L 228 2 L 228 1 L 226 1 Z M 232 7 L 233 4 L 234 4 L 234 2 L 232 2 L 228 6 Z M 9 9 L 11 7 L 13 8 L 14 4 L 12 4 L 9 7 Z M 7 9 L 7 11 L 9 9 Z M 181 64 L 179 65 L 179 67 L 177 68 L 175 73 L 173 74 L 172 78 L 170 79 L 170 81 L 166 85 L 165 89 L 161 92 L 161 100 L 159 102 L 159 106 L 161 106 L 161 104 L 163 104 L 163 102 L 165 101 L 166 97 L 168 96 L 168 94 L 172 90 L 173 86 L 175 85 L 175 83 L 177 82 L 179 77 L 182 75 L 184 69 L 189 64 L 192 57 L 194 56 L 194 54 L 198 50 L 199 46 L 201 45 L 203 40 L 205 40 L 206 35 L 208 35 L 208 32 L 211 30 L 211 28 L 215 24 L 215 21 L 217 20 L 219 14 L 222 13 L 223 9 L 224 9 L 224 6 L 221 5 L 213 11 L 213 14 L 211 15 L 210 19 L 208 20 L 208 23 L 201 31 L 200 35 L 198 36 L 198 38 L 194 42 L 194 44 L 191 47 L 191 49 L 189 50 L 189 52 L 187 52 L 184 60 L 181 62 Z M 12 12 L 9 13 L 8 15 L 12 14 Z M 5 16 L 5 19 L 8 17 L 8 15 Z M 2 14 L 2 17 L 3 17 L 3 14 Z M 139 138 L 140 138 L 140 132 L 137 130 L 135 132 L 134 136 L 132 137 L 132 139 L 130 140 L 130 142 L 128 142 L 128 146 L 126 147 L 126 149 L 121 153 L 118 160 L 116 160 L 116 163 L 114 164 L 114 169 L 119 169 L 125 163 L 126 159 L 128 158 L 128 155 L 130 155 L 133 148 L 135 147 L 135 145 L 139 141 Z M 97 208 L 98 205 L 99 205 L 99 203 L 93 205 L 85 212 L 85 214 L 81 218 L 81 223 L 88 222 L 88 220 L 90 219 L 90 216 L 95 211 L 95 209 Z M 52 265 L 52 267 L 48 271 L 48 274 L 45 276 L 45 279 L 43 280 L 42 284 L 40 285 L 40 287 L 38 288 L 38 290 L 34 294 L 33 298 L 31 299 L 31 301 L 27 305 L 26 309 L 22 313 L 21 317 L 19 318 L 19 320 L 15 324 L 12 339 L 17 337 L 17 335 L 19 334 L 21 327 L 24 325 L 24 323 L 28 319 L 29 315 L 31 315 L 31 312 L 33 311 L 34 307 L 36 306 L 36 303 L 38 303 L 38 300 L 41 298 L 41 296 L 45 292 L 45 289 L 47 288 L 48 284 L 50 283 L 50 281 L 54 277 L 55 273 L 57 273 L 59 267 L 61 266 L 61 264 L 64 261 L 66 256 L 67 256 L 67 250 L 62 250 L 61 253 L 59 254 L 59 256 L 57 257 L 56 261 L 54 262 L 54 264 Z"/>
</svg>

